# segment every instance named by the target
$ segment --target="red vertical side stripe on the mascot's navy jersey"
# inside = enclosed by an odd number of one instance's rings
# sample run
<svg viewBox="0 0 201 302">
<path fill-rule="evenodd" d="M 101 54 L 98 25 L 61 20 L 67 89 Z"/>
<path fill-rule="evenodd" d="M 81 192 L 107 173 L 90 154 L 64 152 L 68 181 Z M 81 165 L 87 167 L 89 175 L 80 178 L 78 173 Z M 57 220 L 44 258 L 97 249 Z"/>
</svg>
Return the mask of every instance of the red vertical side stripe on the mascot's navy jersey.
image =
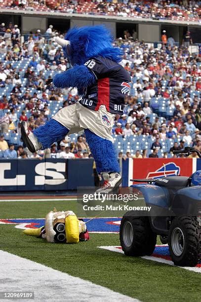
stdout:
<svg viewBox="0 0 201 302">
<path fill-rule="evenodd" d="M 98 79 L 98 102 L 95 111 L 99 110 L 101 105 L 105 105 L 107 111 L 110 112 L 110 79 L 104 77 Z"/>
</svg>

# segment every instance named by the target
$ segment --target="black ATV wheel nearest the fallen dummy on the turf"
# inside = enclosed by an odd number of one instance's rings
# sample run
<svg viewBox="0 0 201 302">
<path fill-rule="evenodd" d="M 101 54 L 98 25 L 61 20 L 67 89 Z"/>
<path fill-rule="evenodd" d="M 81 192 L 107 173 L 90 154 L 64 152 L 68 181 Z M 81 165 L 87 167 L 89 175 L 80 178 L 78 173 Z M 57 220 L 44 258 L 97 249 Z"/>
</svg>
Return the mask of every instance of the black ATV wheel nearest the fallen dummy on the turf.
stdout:
<svg viewBox="0 0 201 302">
<path fill-rule="evenodd" d="M 155 250 L 157 234 L 152 231 L 148 217 L 126 214 L 121 220 L 120 242 L 126 256 L 150 256 Z"/>
</svg>

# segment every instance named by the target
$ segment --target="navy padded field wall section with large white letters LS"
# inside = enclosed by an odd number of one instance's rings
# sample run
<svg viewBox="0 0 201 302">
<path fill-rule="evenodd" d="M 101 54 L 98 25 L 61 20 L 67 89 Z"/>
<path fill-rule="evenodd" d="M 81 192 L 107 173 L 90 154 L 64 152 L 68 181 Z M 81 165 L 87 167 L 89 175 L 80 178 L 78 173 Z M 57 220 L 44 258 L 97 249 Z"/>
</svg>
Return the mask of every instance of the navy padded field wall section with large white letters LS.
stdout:
<svg viewBox="0 0 201 302">
<path fill-rule="evenodd" d="M 93 159 L 2 159 L 0 191 L 93 187 Z"/>
</svg>

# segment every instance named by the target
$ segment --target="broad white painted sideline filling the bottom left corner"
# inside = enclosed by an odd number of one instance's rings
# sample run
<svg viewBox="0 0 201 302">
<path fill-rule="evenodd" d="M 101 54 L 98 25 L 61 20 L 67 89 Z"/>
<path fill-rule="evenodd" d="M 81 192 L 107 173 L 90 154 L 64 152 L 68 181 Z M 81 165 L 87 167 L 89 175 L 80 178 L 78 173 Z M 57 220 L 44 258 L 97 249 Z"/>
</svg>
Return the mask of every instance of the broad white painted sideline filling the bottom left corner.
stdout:
<svg viewBox="0 0 201 302">
<path fill-rule="evenodd" d="M 0 291 L 35 292 L 34 300 L 23 301 L 139 302 L 106 287 L 1 250 L 0 260 Z"/>
</svg>

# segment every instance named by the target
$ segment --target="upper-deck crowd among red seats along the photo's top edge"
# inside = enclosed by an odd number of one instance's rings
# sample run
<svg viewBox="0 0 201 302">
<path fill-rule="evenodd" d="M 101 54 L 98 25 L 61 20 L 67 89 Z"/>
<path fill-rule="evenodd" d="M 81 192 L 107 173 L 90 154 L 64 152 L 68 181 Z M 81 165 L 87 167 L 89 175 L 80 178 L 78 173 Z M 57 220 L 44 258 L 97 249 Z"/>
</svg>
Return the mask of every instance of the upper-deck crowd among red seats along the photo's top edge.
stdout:
<svg viewBox="0 0 201 302">
<path fill-rule="evenodd" d="M 1 7 L 92 15 L 199 21 L 199 1 L 189 0 L 6 0 Z"/>
</svg>

